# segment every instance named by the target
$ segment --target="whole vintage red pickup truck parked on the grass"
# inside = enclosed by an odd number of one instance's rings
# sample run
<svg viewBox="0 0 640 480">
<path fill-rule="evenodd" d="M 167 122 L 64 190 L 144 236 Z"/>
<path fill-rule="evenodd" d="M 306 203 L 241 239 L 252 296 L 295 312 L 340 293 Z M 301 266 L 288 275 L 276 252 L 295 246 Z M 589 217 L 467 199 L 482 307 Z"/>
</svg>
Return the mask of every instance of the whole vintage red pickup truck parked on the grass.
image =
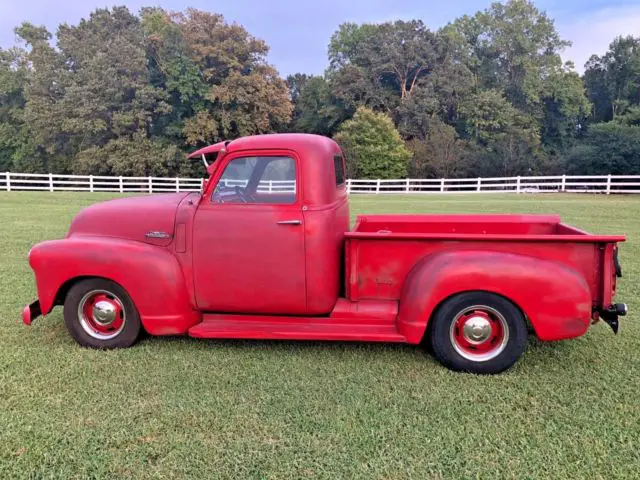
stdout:
<svg viewBox="0 0 640 480">
<path fill-rule="evenodd" d="M 81 211 L 29 253 L 38 301 L 84 346 L 151 335 L 426 343 L 496 373 L 541 340 L 614 330 L 617 242 L 553 215 L 365 215 L 350 230 L 343 153 L 314 135 L 246 137 L 190 155 L 202 193 Z M 209 164 L 208 162 L 211 163 Z"/>
</svg>

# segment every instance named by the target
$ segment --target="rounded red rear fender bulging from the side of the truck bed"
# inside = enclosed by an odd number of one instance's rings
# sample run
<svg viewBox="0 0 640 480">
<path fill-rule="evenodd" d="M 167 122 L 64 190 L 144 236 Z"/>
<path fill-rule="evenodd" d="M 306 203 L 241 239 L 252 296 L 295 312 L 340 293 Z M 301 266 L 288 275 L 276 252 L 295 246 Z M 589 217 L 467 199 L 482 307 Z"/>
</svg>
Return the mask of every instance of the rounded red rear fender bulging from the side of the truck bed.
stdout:
<svg viewBox="0 0 640 480">
<path fill-rule="evenodd" d="M 455 251 L 425 257 L 411 270 L 400 297 L 400 332 L 409 343 L 419 343 L 437 306 L 465 291 L 508 298 L 541 340 L 577 337 L 590 325 L 591 291 L 577 271 L 518 254 Z"/>
</svg>

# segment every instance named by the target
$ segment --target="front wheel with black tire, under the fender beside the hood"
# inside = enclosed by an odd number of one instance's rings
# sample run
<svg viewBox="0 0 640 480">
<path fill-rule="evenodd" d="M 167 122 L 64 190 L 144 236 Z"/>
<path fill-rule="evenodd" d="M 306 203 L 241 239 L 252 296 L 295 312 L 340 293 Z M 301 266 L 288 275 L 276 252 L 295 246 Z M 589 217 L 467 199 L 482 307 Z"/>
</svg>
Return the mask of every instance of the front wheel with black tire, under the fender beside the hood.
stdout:
<svg viewBox="0 0 640 480">
<path fill-rule="evenodd" d="M 100 301 L 113 309 L 107 313 L 108 318 L 102 319 L 103 323 L 96 320 L 96 315 L 104 315 L 105 311 L 98 309 Z M 113 306 L 109 306 L 109 302 Z M 85 308 L 90 312 L 100 311 L 87 315 Z M 113 320 L 109 322 L 111 316 Z M 142 331 L 140 316 L 129 294 L 117 283 L 103 278 L 81 280 L 71 287 L 64 301 L 64 323 L 80 345 L 100 349 L 130 347 Z"/>
</svg>

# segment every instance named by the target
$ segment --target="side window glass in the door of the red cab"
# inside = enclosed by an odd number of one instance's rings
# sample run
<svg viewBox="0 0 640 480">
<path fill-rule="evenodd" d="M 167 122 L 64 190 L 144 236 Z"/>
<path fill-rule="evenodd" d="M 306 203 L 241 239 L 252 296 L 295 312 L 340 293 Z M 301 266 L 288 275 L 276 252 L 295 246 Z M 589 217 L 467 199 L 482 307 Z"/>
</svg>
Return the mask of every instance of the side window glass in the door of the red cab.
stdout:
<svg viewBox="0 0 640 480">
<path fill-rule="evenodd" d="M 241 157 L 226 166 L 211 200 L 213 203 L 292 204 L 296 193 L 293 158 Z"/>
</svg>

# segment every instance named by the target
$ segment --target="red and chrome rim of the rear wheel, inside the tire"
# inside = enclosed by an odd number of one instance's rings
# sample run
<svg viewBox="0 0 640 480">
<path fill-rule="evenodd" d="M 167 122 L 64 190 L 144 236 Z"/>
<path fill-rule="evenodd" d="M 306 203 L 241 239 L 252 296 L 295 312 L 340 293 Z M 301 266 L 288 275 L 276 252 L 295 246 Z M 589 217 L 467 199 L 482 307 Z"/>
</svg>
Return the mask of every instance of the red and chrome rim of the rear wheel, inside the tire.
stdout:
<svg viewBox="0 0 640 480">
<path fill-rule="evenodd" d="M 497 357 L 509 341 L 509 326 L 504 316 L 487 305 L 474 305 L 459 312 L 449 332 L 458 354 L 474 362 Z"/>
</svg>

